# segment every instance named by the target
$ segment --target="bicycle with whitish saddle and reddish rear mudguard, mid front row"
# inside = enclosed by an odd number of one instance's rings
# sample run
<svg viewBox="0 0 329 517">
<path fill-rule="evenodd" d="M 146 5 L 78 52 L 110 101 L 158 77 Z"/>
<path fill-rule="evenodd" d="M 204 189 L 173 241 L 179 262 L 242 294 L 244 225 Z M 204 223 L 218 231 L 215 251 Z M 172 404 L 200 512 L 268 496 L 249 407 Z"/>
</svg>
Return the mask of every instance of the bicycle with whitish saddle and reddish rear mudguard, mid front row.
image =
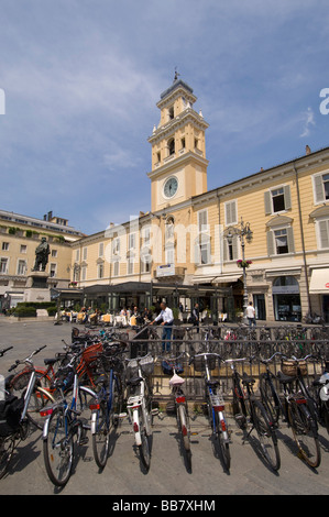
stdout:
<svg viewBox="0 0 329 517">
<path fill-rule="evenodd" d="M 172 388 L 172 397 L 175 402 L 175 414 L 177 420 L 177 428 L 180 436 L 182 449 L 185 455 L 185 464 L 188 471 L 191 470 L 191 450 L 190 450 L 190 427 L 189 427 L 189 415 L 186 397 L 183 391 L 183 384 L 185 380 L 178 374 L 184 372 L 183 365 L 179 360 L 185 355 L 183 352 L 176 358 L 162 358 L 162 370 L 165 375 L 172 375 L 169 380 L 169 386 Z"/>
</svg>

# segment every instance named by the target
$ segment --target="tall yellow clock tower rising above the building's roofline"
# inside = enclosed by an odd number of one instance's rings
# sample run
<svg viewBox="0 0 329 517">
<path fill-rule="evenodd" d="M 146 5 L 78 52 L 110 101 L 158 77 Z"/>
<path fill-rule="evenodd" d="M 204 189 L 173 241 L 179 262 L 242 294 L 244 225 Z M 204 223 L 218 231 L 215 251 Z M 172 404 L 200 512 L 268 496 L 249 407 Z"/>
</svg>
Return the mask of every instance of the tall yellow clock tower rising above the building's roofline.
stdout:
<svg viewBox="0 0 329 517">
<path fill-rule="evenodd" d="M 152 145 L 151 210 L 156 212 L 207 191 L 205 131 L 209 124 L 194 110 L 193 89 L 175 74 L 157 102 L 160 124 Z"/>
</svg>

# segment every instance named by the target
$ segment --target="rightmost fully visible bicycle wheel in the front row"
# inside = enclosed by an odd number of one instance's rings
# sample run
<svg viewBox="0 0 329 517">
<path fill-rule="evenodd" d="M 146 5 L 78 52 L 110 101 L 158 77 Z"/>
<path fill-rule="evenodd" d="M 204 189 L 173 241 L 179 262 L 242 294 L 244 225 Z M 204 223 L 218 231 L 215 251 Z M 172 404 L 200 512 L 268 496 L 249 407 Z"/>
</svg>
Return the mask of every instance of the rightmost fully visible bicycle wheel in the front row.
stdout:
<svg viewBox="0 0 329 517">
<path fill-rule="evenodd" d="M 297 404 L 295 400 L 290 400 L 288 420 L 300 457 L 309 466 L 316 469 L 321 462 L 320 446 L 316 422 L 311 418 L 306 404 Z"/>
</svg>

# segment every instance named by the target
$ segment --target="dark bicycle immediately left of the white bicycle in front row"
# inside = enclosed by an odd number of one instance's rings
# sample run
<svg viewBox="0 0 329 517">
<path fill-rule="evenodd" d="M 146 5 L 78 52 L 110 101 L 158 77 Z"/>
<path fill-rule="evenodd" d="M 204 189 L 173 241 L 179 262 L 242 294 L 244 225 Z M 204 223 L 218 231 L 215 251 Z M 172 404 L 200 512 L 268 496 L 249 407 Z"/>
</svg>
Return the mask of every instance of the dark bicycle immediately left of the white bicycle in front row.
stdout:
<svg viewBox="0 0 329 517">
<path fill-rule="evenodd" d="M 125 348 L 125 346 L 124 346 Z M 122 362 L 119 359 L 124 349 L 117 345 L 108 346 L 100 355 L 101 375 L 96 382 L 97 400 L 90 406 L 91 413 L 91 437 L 92 451 L 96 464 L 103 469 L 107 464 L 110 437 L 113 429 L 117 429 L 121 414 L 123 391 L 122 391 Z"/>
</svg>

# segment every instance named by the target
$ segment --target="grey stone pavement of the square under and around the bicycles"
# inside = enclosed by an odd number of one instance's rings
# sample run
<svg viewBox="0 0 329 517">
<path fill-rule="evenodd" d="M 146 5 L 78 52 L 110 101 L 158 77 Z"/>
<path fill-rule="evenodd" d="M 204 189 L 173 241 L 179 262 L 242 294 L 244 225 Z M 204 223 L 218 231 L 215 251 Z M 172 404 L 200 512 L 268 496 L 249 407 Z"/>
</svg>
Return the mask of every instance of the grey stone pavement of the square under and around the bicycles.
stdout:
<svg viewBox="0 0 329 517">
<path fill-rule="evenodd" d="M 47 344 L 35 363 L 52 356 L 62 348 L 62 339 L 70 340 L 70 324 L 8 323 L 0 319 L 0 349 L 13 345 L 0 361 L 1 372 L 15 359 L 23 359 L 35 348 Z M 37 358 L 37 362 L 36 362 Z M 91 443 L 79 449 L 74 473 L 62 491 L 48 481 L 42 452 L 41 432 L 35 431 L 18 447 L 9 473 L 0 481 L 1 495 L 97 495 L 116 496 L 194 496 L 216 495 L 287 495 L 328 494 L 329 437 L 320 429 L 322 461 L 317 470 L 308 468 L 297 455 L 290 431 L 283 425 L 279 429 L 282 466 L 272 472 L 257 451 L 257 440 L 242 444 L 241 431 L 229 419 L 231 435 L 231 469 L 227 473 L 216 458 L 209 427 L 204 416 L 191 416 L 193 470 L 188 472 L 179 451 L 174 417 L 160 415 L 154 419 L 152 461 L 149 473 L 143 471 L 128 419 L 124 419 L 113 437 L 107 466 L 99 472 Z"/>
</svg>

